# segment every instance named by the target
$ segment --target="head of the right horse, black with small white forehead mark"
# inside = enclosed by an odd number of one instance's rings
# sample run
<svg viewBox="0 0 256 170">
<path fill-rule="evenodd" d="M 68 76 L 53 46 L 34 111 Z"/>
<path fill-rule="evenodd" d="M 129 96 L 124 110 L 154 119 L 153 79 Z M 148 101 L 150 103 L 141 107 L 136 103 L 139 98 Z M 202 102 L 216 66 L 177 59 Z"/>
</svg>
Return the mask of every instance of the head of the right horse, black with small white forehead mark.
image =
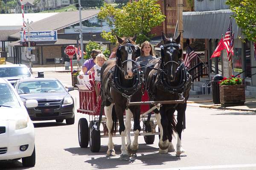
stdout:
<svg viewBox="0 0 256 170">
<path fill-rule="evenodd" d="M 175 81 L 177 70 L 181 63 L 182 48 L 180 35 L 177 38 L 166 38 L 162 32 L 163 46 L 161 48 L 161 64 L 169 82 Z"/>
</svg>

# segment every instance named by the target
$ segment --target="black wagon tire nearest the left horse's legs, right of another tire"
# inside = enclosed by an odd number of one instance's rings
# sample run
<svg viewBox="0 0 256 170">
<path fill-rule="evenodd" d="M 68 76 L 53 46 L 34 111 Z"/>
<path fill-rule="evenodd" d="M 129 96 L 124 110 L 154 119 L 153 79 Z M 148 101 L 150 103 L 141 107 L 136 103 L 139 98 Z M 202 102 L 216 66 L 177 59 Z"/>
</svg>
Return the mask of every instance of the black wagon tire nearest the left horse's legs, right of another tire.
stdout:
<svg viewBox="0 0 256 170">
<path fill-rule="evenodd" d="M 96 130 L 94 126 L 98 124 L 98 121 L 91 121 L 89 125 L 89 143 L 91 152 L 99 152 L 100 150 L 100 130 Z"/>
</svg>

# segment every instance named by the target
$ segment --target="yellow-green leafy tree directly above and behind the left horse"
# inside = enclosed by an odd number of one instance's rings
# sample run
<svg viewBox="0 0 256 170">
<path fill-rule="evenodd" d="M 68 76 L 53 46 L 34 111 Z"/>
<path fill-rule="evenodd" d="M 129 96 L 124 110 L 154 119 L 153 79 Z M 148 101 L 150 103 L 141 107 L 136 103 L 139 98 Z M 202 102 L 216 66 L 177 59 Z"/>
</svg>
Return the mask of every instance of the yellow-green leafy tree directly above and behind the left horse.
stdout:
<svg viewBox="0 0 256 170">
<path fill-rule="evenodd" d="M 119 37 L 133 37 L 137 34 L 139 44 L 150 40 L 154 36 L 150 34 L 151 29 L 161 25 L 165 19 L 157 0 L 133 1 L 122 8 L 114 8 L 105 3 L 98 17 L 106 20 L 109 26 L 115 26 L 111 32 L 102 32 L 104 39 L 116 42 L 115 34 Z"/>
</svg>

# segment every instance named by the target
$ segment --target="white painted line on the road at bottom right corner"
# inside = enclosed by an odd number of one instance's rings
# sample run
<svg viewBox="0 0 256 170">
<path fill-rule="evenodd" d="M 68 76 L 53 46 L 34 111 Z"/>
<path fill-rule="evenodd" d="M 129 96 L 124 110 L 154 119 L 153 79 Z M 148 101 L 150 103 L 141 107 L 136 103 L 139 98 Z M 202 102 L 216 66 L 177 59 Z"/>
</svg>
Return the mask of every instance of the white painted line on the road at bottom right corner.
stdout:
<svg viewBox="0 0 256 170">
<path fill-rule="evenodd" d="M 209 170 L 209 169 L 226 169 L 236 167 L 256 167 L 256 164 L 231 164 L 231 165 L 209 165 L 199 167 L 175 167 L 175 168 L 162 168 L 151 170 Z"/>
</svg>

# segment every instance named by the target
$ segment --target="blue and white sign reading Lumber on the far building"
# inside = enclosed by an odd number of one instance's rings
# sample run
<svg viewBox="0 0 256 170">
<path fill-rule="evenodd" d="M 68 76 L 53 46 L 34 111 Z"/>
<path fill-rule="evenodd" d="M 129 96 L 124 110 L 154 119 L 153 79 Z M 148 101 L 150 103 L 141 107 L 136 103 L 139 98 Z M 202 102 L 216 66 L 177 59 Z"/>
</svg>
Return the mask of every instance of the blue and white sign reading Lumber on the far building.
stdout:
<svg viewBox="0 0 256 170">
<path fill-rule="evenodd" d="M 57 31 L 30 31 L 26 32 L 26 41 L 57 41 Z M 20 31 L 20 41 L 24 41 L 23 32 Z"/>
</svg>

